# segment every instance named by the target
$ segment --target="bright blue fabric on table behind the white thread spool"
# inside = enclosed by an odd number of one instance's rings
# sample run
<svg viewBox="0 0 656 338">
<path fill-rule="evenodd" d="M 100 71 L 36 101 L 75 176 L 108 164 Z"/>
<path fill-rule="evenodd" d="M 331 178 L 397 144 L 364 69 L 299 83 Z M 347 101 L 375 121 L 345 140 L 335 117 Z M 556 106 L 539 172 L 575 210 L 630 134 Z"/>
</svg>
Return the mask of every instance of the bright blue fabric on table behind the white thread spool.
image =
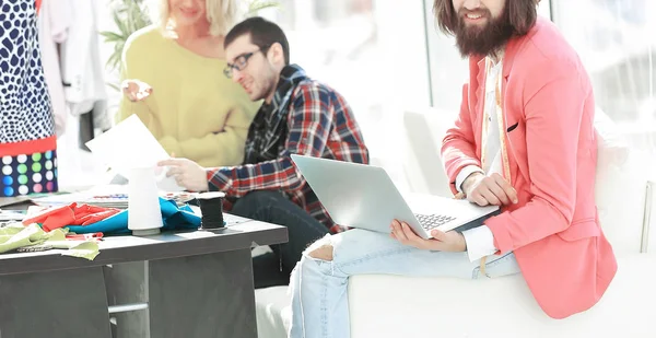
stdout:
<svg viewBox="0 0 656 338">
<path fill-rule="evenodd" d="M 195 214 L 187 205 L 178 208 L 175 201 L 160 198 L 160 209 L 164 222 L 162 230 L 198 229 L 200 226 L 200 217 Z M 107 235 L 129 234 L 132 231 L 128 229 L 128 212 L 129 209 L 126 209 L 90 225 L 68 225 L 66 228 L 78 234 L 94 232 L 102 232 Z"/>
</svg>

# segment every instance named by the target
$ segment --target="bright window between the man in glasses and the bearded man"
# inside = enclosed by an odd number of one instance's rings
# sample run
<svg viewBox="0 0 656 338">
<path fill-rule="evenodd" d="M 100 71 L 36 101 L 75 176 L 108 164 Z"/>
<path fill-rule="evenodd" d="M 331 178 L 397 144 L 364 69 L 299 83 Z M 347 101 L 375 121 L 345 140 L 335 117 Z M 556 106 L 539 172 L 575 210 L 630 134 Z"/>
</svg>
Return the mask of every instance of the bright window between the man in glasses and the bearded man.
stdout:
<svg viewBox="0 0 656 338">
<path fill-rule="evenodd" d="M 402 184 L 403 109 L 430 105 L 423 3 L 279 0 L 266 16 L 290 39 L 291 61 L 349 102 L 372 163 Z"/>
</svg>

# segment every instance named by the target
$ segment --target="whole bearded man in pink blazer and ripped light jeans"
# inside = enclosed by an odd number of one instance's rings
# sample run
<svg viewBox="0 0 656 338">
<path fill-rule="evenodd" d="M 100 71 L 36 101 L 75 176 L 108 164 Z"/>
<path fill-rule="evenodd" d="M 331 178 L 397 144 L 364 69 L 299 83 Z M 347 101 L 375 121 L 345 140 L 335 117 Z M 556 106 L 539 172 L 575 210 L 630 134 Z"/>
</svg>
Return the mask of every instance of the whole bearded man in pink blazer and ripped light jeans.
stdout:
<svg viewBox="0 0 656 338">
<path fill-rule="evenodd" d="M 360 273 L 495 278 L 522 273 L 564 318 L 599 301 L 617 271 L 595 206 L 597 135 L 588 75 L 538 0 L 435 0 L 469 58 L 460 113 L 443 142 L 454 195 L 501 213 L 423 240 L 351 230 L 304 254 L 292 276 L 290 337 L 348 338 L 348 280 Z"/>
</svg>

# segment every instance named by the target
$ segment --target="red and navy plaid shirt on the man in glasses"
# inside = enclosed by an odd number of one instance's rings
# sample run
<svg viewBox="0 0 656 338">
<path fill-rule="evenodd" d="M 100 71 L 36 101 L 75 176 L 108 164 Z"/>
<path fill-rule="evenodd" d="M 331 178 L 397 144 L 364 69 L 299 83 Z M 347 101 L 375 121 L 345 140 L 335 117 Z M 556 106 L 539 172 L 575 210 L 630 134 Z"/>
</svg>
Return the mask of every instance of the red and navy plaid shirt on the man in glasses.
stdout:
<svg viewBox="0 0 656 338">
<path fill-rule="evenodd" d="M 332 222 L 294 166 L 291 154 L 368 163 L 368 150 L 344 98 L 305 71 L 283 68 L 271 104 L 257 113 L 245 144 L 244 164 L 207 171 L 210 190 L 243 197 L 255 190 L 279 190 L 331 232 Z M 226 206 L 230 210 L 230 206 Z"/>
</svg>

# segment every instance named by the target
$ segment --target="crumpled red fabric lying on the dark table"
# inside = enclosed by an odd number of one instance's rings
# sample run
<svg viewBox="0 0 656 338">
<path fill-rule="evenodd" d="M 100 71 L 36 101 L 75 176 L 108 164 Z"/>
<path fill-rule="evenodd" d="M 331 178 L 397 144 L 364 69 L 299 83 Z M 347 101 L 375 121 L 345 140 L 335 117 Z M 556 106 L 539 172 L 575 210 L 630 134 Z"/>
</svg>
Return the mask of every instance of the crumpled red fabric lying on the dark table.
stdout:
<svg viewBox="0 0 656 338">
<path fill-rule="evenodd" d="M 120 209 L 101 208 L 89 205 L 70 203 L 49 209 L 48 211 L 23 221 L 24 225 L 39 223 L 44 231 L 67 225 L 89 225 L 118 213 Z"/>
</svg>

